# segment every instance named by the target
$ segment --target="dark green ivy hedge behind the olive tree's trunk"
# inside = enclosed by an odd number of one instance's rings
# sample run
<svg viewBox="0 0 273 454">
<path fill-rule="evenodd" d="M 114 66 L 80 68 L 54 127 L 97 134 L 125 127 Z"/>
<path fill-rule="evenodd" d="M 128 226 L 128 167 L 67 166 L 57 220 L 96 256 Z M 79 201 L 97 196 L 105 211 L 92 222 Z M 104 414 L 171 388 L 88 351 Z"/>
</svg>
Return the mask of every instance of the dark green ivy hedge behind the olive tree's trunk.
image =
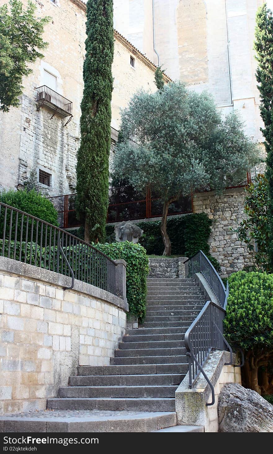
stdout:
<svg viewBox="0 0 273 454">
<path fill-rule="evenodd" d="M 148 255 L 161 256 L 164 245 L 160 233 L 160 221 L 139 222 L 137 225 L 144 231 L 140 244 Z M 217 271 L 220 266 L 214 257 L 210 256 L 208 239 L 211 233 L 212 220 L 205 213 L 193 213 L 185 216 L 167 219 L 167 232 L 171 239 L 172 255 L 191 257 L 199 250 L 210 259 Z M 114 225 L 106 226 L 107 242 L 115 242 Z"/>
</svg>

